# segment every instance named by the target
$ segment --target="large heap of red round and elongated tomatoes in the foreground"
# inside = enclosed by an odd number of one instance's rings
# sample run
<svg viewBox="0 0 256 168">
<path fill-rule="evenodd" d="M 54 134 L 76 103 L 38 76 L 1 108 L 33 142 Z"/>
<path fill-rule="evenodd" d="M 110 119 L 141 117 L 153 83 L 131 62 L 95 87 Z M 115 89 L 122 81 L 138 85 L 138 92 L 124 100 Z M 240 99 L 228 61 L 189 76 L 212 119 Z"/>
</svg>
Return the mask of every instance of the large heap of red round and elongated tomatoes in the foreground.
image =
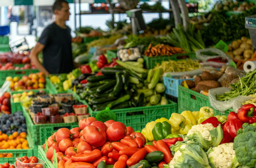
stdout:
<svg viewBox="0 0 256 168">
<path fill-rule="evenodd" d="M 58 129 L 47 139 L 43 149 L 47 145 L 46 157 L 52 162 L 56 151 L 58 168 L 97 167 L 102 161 L 114 165 L 114 168 L 130 167 L 156 151 L 162 154 L 158 163 L 161 161 L 161 164 L 166 164 L 170 161 L 170 154 L 164 151 L 169 152 L 165 143 L 159 142 L 151 148 L 144 147 L 145 144 L 145 136 L 135 132 L 132 127 L 114 120 L 103 123 L 89 117 L 80 120 L 79 127 Z"/>
</svg>

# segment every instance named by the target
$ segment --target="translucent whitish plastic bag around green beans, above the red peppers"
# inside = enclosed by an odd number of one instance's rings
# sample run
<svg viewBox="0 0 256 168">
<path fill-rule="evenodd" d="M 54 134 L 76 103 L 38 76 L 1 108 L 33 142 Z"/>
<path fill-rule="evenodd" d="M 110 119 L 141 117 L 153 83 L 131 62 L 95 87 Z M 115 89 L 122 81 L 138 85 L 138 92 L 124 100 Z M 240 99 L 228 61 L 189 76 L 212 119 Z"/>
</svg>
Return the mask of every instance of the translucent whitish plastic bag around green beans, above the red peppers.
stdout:
<svg viewBox="0 0 256 168">
<path fill-rule="evenodd" d="M 208 93 L 210 106 L 219 111 L 225 111 L 229 108 L 233 108 L 233 110 L 237 113 L 238 109 L 242 106 L 242 102 L 252 99 L 251 96 L 238 96 L 236 98 L 232 98 L 227 101 L 219 101 L 216 99 L 215 97 L 216 95 L 220 95 L 229 91 L 230 91 L 230 88 L 210 89 Z"/>
</svg>

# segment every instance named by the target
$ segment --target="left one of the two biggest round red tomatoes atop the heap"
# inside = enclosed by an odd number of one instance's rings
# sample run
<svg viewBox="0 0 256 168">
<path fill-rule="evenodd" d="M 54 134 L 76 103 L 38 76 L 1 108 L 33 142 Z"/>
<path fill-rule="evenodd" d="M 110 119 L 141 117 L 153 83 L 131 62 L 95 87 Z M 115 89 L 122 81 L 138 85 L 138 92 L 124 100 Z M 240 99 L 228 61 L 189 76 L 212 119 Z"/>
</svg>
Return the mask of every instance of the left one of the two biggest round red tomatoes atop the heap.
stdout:
<svg viewBox="0 0 256 168">
<path fill-rule="evenodd" d="M 82 136 L 90 145 L 101 147 L 106 142 L 106 132 L 94 125 L 89 125 L 82 130 Z"/>
</svg>

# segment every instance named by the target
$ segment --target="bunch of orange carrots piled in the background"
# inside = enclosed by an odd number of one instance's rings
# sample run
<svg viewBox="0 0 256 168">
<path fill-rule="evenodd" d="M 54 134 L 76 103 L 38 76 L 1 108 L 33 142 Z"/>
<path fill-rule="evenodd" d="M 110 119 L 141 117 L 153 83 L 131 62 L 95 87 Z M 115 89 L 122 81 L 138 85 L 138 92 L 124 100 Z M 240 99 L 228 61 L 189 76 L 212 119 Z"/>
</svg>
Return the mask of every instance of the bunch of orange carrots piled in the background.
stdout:
<svg viewBox="0 0 256 168">
<path fill-rule="evenodd" d="M 179 47 L 172 47 L 164 44 L 158 44 L 153 47 L 152 44 L 150 44 L 148 45 L 147 50 L 145 50 L 144 55 L 153 57 L 159 55 L 173 55 L 176 53 L 184 53 L 184 51 Z"/>
</svg>

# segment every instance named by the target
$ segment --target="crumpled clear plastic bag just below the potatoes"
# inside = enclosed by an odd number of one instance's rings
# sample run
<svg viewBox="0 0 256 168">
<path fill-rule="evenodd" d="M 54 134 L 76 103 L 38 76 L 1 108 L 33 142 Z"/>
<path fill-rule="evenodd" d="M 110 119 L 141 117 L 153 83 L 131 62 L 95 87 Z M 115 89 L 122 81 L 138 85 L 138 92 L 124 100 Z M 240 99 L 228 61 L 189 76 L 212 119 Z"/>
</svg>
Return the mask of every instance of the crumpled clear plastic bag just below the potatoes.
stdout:
<svg viewBox="0 0 256 168">
<path fill-rule="evenodd" d="M 212 56 L 209 56 L 209 55 Z M 228 57 L 227 54 L 225 54 L 223 51 L 217 49 L 217 48 L 206 48 L 206 49 L 199 49 L 196 51 L 196 57 L 197 59 L 203 61 L 203 63 L 200 63 L 202 66 L 212 66 L 216 68 L 221 68 L 223 65 L 229 65 L 231 59 Z M 216 59 L 216 58 L 223 58 L 227 59 L 226 63 L 218 63 L 214 61 L 207 61 L 209 59 Z"/>
</svg>

